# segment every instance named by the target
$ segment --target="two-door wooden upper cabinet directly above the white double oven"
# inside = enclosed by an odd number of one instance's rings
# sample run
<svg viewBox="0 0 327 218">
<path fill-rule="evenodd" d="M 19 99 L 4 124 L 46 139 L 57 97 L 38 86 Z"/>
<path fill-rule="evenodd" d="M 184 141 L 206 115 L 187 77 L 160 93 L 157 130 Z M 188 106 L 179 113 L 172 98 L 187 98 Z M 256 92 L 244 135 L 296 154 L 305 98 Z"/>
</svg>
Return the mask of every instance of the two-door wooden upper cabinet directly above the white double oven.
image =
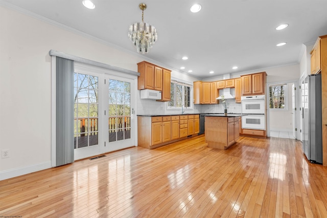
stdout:
<svg viewBox="0 0 327 218">
<path fill-rule="evenodd" d="M 266 72 L 241 76 L 242 96 L 265 94 Z"/>
</svg>

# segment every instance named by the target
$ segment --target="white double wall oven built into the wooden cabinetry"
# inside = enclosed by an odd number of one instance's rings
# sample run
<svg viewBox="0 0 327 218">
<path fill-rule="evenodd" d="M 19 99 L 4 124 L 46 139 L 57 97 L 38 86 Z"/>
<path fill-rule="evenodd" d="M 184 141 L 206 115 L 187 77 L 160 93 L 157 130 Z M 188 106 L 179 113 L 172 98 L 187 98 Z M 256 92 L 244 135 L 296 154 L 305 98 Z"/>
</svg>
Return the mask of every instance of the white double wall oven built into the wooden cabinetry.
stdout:
<svg viewBox="0 0 327 218">
<path fill-rule="evenodd" d="M 242 96 L 242 129 L 266 130 L 265 95 Z"/>
</svg>

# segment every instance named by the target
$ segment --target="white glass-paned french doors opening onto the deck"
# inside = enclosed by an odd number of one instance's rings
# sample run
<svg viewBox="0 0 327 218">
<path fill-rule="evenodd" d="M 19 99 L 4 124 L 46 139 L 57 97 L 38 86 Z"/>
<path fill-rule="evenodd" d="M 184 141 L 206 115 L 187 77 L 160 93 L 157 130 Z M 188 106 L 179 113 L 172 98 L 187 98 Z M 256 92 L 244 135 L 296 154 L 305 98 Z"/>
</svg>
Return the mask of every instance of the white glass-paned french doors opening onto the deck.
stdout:
<svg viewBox="0 0 327 218">
<path fill-rule="evenodd" d="M 135 145 L 134 79 L 75 66 L 74 159 Z"/>
</svg>

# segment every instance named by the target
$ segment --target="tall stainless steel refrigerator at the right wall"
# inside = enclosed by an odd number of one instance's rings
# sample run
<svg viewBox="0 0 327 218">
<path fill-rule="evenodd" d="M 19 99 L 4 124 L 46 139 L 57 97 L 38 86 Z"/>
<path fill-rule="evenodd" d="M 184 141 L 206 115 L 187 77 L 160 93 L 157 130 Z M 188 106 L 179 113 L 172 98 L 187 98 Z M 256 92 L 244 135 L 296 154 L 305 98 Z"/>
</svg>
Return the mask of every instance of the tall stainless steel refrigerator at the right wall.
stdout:
<svg viewBox="0 0 327 218">
<path fill-rule="evenodd" d="M 321 74 L 313 74 L 301 84 L 302 149 L 312 163 L 322 163 Z"/>
</svg>

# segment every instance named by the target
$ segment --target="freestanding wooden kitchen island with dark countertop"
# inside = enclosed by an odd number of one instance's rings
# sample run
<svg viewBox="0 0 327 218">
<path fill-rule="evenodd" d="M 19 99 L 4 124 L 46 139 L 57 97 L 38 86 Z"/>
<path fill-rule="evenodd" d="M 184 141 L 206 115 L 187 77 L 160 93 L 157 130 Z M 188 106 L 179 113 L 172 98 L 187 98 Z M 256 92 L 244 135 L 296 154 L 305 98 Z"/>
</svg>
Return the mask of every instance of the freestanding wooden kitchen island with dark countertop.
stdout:
<svg viewBox="0 0 327 218">
<path fill-rule="evenodd" d="M 208 147 L 225 150 L 240 137 L 242 114 L 205 114 L 205 142 Z"/>
</svg>

